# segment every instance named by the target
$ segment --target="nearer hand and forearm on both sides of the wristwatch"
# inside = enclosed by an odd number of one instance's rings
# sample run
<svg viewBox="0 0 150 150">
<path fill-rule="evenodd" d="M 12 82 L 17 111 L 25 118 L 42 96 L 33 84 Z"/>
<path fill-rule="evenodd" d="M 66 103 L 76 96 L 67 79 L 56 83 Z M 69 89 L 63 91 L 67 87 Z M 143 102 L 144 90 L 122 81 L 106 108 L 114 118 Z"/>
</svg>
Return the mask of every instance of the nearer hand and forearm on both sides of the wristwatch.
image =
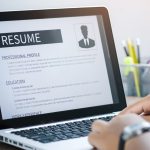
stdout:
<svg viewBox="0 0 150 150">
<path fill-rule="evenodd" d="M 119 137 L 125 126 L 141 123 L 144 119 L 140 116 L 130 114 L 118 116 L 110 122 L 95 121 L 92 125 L 92 132 L 89 134 L 91 145 L 100 150 L 117 150 Z M 147 150 L 150 148 L 150 132 L 133 138 L 126 143 L 125 150 Z"/>
</svg>

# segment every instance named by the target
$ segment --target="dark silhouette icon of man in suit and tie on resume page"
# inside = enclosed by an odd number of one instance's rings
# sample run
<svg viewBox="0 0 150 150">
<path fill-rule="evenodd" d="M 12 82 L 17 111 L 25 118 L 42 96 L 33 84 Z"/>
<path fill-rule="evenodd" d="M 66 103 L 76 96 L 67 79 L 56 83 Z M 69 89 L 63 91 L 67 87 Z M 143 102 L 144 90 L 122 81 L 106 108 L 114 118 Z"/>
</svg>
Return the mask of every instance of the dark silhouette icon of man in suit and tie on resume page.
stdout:
<svg viewBox="0 0 150 150">
<path fill-rule="evenodd" d="M 81 48 L 91 48 L 95 46 L 95 41 L 93 39 L 88 38 L 88 27 L 86 25 L 81 26 L 81 32 L 83 35 L 83 39 L 81 39 L 78 43 Z"/>
</svg>

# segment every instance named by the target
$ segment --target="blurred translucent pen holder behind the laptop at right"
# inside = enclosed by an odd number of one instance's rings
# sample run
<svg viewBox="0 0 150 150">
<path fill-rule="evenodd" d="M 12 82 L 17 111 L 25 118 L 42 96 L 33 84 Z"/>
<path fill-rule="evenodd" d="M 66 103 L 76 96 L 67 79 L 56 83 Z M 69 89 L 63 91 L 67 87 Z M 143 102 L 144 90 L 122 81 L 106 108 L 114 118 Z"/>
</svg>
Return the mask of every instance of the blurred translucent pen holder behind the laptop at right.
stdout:
<svg viewBox="0 0 150 150">
<path fill-rule="evenodd" d="M 126 96 L 150 94 L 150 64 L 121 64 L 120 70 Z"/>
</svg>

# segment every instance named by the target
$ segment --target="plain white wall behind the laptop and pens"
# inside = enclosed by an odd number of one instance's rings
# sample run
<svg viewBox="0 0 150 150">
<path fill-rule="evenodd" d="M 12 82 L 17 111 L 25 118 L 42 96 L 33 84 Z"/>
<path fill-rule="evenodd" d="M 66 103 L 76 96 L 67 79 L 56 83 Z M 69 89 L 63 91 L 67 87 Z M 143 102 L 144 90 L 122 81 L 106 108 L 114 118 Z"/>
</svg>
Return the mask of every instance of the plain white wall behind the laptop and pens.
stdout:
<svg viewBox="0 0 150 150">
<path fill-rule="evenodd" d="M 0 11 L 82 6 L 106 6 L 109 9 L 120 62 L 124 57 L 121 41 L 128 37 L 139 37 L 142 57 L 150 57 L 149 0 L 0 0 Z"/>
</svg>

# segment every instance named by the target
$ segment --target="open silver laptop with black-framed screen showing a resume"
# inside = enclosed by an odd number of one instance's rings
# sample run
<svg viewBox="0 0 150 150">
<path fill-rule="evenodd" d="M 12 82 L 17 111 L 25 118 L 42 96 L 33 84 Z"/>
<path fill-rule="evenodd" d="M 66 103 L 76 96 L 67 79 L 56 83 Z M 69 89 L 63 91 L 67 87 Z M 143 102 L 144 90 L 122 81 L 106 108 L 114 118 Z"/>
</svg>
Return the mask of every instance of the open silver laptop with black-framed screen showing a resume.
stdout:
<svg viewBox="0 0 150 150">
<path fill-rule="evenodd" d="M 0 12 L 0 70 L 0 141 L 21 149 L 92 149 L 126 107 L 104 7 Z"/>
</svg>

